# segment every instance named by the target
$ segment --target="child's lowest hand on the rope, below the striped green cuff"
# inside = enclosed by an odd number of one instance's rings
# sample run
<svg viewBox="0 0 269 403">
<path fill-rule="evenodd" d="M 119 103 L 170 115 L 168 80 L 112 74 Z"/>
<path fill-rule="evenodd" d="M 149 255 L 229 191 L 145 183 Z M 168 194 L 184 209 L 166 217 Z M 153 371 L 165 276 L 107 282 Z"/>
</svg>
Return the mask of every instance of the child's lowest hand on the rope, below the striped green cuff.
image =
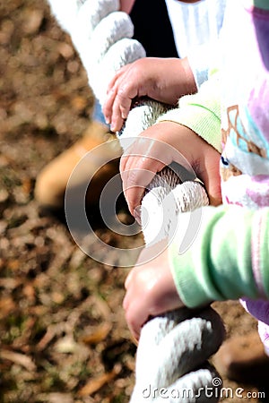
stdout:
<svg viewBox="0 0 269 403">
<path fill-rule="evenodd" d="M 139 339 L 141 328 L 150 317 L 183 305 L 169 268 L 166 242 L 143 249 L 126 278 L 123 303 L 134 339 Z"/>
</svg>

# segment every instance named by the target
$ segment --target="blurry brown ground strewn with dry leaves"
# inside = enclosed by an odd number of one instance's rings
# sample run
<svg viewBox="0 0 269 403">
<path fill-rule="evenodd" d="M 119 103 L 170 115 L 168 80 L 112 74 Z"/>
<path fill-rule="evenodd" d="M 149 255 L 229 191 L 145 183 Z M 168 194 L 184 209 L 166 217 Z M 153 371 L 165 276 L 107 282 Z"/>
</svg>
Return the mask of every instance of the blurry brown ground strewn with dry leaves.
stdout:
<svg viewBox="0 0 269 403">
<path fill-rule="evenodd" d="M 40 169 L 87 129 L 92 103 L 82 64 L 45 0 L 0 0 L 3 403 L 126 403 L 134 386 L 135 346 L 121 307 L 126 270 L 82 253 L 65 220 L 33 198 Z M 96 231 L 117 247 L 134 244 L 101 224 Z M 228 338 L 256 328 L 238 303 L 214 306 Z M 244 401 L 262 401 L 255 386 L 223 382 L 254 392 Z"/>
</svg>

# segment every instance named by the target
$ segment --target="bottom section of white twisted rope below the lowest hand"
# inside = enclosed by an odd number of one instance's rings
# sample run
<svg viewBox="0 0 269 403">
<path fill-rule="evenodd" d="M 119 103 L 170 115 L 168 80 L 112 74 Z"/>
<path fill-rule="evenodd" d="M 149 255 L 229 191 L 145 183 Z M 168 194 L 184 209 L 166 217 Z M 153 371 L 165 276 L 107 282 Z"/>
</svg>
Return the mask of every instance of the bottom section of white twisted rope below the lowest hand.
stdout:
<svg viewBox="0 0 269 403">
<path fill-rule="evenodd" d="M 212 308 L 200 313 L 182 308 L 147 322 L 137 348 L 131 403 L 160 403 L 163 389 L 169 402 L 218 401 L 217 389 L 213 396 L 208 392 L 219 375 L 206 360 L 222 338 L 223 326 Z"/>
</svg>

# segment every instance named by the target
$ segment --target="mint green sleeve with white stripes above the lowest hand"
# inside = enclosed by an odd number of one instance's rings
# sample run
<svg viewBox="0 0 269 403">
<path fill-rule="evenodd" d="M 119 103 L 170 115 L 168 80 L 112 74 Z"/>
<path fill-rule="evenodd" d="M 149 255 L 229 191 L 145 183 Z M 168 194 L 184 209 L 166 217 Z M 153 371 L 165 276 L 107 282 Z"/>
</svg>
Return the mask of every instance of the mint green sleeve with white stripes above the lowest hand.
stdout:
<svg viewBox="0 0 269 403">
<path fill-rule="evenodd" d="M 178 252 L 182 234 L 169 245 L 182 301 L 197 307 L 242 296 L 269 297 L 269 209 L 222 205 L 202 210 L 200 228 L 187 251 Z"/>
</svg>

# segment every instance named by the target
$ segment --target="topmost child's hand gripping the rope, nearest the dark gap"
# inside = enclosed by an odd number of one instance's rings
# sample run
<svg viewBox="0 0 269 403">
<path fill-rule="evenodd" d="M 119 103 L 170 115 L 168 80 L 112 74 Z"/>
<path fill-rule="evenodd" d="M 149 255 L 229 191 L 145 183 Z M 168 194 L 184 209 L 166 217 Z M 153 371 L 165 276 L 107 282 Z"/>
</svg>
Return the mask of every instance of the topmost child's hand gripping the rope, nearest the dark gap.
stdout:
<svg viewBox="0 0 269 403">
<path fill-rule="evenodd" d="M 119 69 L 109 82 L 103 113 L 111 130 L 117 132 L 128 116 L 132 99 L 147 96 L 176 105 L 182 95 L 195 90 L 187 58 L 143 57 Z"/>
</svg>

